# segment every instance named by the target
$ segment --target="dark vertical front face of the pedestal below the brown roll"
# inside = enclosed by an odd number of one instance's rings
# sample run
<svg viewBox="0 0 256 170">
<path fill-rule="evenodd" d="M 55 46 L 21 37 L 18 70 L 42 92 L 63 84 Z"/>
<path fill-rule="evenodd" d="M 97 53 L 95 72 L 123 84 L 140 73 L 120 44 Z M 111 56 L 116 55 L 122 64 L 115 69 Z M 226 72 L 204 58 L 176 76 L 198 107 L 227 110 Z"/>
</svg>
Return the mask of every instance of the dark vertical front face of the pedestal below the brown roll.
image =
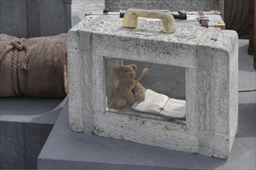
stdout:
<svg viewBox="0 0 256 170">
<path fill-rule="evenodd" d="M 0 121 L 0 168 L 36 169 L 53 124 Z"/>
</svg>

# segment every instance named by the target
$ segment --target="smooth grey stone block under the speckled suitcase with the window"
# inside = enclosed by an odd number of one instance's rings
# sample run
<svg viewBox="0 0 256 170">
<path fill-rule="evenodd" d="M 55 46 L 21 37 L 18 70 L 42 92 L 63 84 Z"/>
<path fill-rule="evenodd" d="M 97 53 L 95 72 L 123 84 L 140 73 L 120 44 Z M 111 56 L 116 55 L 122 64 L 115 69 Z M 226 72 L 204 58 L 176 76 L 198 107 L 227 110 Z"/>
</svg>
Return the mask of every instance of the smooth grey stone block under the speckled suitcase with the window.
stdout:
<svg viewBox="0 0 256 170">
<path fill-rule="evenodd" d="M 241 96 L 248 99 L 248 94 Z M 250 95 L 252 99 L 253 95 Z M 243 100 L 244 101 L 244 100 Z M 242 101 L 242 102 L 243 102 Z M 241 102 L 241 103 L 242 103 Z M 77 133 L 67 104 L 38 157 L 39 169 L 254 169 L 254 104 L 240 104 L 240 128 L 227 160 Z M 244 138 L 250 137 L 250 138 Z M 244 163 L 246 162 L 246 163 Z"/>
</svg>

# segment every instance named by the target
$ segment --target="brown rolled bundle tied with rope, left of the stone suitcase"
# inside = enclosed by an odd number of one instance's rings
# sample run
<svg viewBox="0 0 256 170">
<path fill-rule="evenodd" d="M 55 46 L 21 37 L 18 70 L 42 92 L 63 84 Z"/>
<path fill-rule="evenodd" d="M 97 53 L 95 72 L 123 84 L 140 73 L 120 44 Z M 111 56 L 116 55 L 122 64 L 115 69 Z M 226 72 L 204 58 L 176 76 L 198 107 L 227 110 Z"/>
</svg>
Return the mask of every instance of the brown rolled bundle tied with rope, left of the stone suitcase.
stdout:
<svg viewBox="0 0 256 170">
<path fill-rule="evenodd" d="M 0 97 L 66 95 L 67 34 L 0 39 Z"/>
</svg>

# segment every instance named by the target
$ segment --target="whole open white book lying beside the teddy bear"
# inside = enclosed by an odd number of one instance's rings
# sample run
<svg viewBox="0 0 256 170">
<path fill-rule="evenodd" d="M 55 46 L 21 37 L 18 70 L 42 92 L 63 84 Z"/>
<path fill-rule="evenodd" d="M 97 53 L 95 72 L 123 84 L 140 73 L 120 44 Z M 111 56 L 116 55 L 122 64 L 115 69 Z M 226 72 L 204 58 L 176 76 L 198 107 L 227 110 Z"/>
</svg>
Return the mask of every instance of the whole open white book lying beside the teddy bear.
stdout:
<svg viewBox="0 0 256 170">
<path fill-rule="evenodd" d="M 140 103 L 135 102 L 132 108 L 134 110 L 159 114 L 166 117 L 185 117 L 185 100 L 172 99 L 150 89 L 146 90 L 145 100 Z"/>
</svg>

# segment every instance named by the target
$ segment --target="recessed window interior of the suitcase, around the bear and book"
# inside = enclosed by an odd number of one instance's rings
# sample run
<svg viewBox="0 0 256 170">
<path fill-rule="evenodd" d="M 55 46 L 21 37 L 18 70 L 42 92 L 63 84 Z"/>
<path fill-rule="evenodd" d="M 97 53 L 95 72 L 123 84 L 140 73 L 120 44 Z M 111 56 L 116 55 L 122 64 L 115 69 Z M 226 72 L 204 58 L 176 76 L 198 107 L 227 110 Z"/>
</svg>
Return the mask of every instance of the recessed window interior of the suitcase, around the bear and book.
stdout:
<svg viewBox="0 0 256 170">
<path fill-rule="evenodd" d="M 166 66 L 154 63 L 137 62 L 133 60 L 110 59 L 105 57 L 106 63 L 106 96 L 107 110 L 116 112 L 117 114 L 130 114 L 137 117 L 146 117 L 159 121 L 171 121 L 185 124 L 184 118 L 167 117 L 161 114 L 150 114 L 133 110 L 132 104 L 128 104 L 122 109 L 117 109 L 113 104 L 113 95 L 118 86 L 118 80 L 115 68 L 122 65 L 136 64 L 137 76 L 140 76 L 145 68 L 148 68 L 148 73 L 140 80 L 140 83 L 146 89 L 154 90 L 156 93 L 161 93 L 171 99 L 185 100 L 185 68 L 177 66 Z"/>
</svg>

